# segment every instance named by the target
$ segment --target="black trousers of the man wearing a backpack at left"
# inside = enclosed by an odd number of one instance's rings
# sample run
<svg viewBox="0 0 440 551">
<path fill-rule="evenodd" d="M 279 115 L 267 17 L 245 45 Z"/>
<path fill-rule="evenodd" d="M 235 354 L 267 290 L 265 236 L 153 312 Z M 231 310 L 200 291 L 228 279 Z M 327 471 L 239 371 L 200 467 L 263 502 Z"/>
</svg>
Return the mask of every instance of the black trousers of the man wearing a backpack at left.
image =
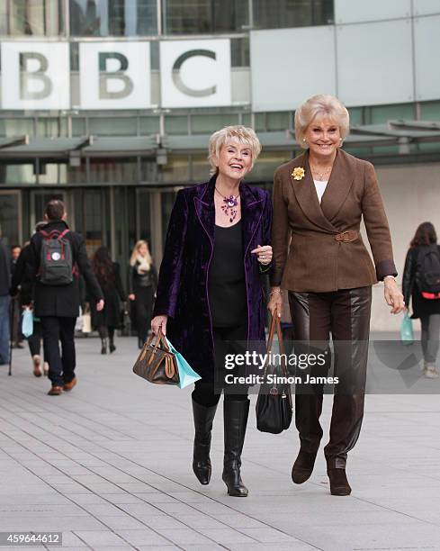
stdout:
<svg viewBox="0 0 440 551">
<path fill-rule="evenodd" d="M 75 377 L 76 318 L 41 316 L 44 359 L 49 362 L 49 379 L 53 386 L 62 386 Z M 61 352 L 59 350 L 61 342 Z"/>
</svg>

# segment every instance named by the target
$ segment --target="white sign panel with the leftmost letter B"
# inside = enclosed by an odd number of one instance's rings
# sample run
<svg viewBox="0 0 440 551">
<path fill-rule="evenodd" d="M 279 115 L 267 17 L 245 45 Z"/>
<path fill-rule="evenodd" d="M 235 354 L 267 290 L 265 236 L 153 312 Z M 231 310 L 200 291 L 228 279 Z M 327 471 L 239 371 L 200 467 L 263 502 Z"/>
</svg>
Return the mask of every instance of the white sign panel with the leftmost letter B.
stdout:
<svg viewBox="0 0 440 551">
<path fill-rule="evenodd" d="M 3 109 L 68 109 L 66 42 L 2 42 Z"/>
</svg>

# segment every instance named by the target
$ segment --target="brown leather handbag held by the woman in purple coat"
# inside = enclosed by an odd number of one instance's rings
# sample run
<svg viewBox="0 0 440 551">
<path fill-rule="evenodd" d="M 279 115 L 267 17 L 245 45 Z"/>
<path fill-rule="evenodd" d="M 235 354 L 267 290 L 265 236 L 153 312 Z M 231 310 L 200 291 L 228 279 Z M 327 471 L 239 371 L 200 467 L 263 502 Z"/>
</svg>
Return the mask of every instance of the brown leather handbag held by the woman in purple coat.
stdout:
<svg viewBox="0 0 440 551">
<path fill-rule="evenodd" d="M 149 383 L 154 384 L 179 384 L 179 370 L 175 361 L 175 355 L 170 352 L 166 339 L 161 330 L 153 344 L 153 335 L 140 351 L 139 357 L 133 366 L 133 373 Z"/>
</svg>

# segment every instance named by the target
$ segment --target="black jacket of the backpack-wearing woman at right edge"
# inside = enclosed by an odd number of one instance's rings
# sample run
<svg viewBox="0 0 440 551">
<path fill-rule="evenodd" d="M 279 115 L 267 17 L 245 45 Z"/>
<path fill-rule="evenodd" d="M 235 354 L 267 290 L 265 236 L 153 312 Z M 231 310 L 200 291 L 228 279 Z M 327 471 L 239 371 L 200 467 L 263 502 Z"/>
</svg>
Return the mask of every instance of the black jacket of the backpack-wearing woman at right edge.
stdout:
<svg viewBox="0 0 440 551">
<path fill-rule="evenodd" d="M 414 320 L 440 313 L 440 300 L 423 298 L 418 288 L 418 255 L 422 248 L 426 247 L 409 248 L 402 276 L 402 293 L 407 307 L 411 303 L 413 312 L 411 318 Z M 437 245 L 437 248 L 440 254 L 440 246 Z"/>
</svg>

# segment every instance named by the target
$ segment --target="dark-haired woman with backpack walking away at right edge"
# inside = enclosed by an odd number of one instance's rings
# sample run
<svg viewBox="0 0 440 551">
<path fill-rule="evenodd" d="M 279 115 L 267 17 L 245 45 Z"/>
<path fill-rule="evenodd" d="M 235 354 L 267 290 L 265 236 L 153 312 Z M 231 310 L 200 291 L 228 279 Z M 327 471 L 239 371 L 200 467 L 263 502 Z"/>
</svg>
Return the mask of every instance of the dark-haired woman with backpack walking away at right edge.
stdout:
<svg viewBox="0 0 440 551">
<path fill-rule="evenodd" d="M 422 295 L 424 285 L 421 267 L 425 264 L 424 257 L 427 254 L 433 259 L 433 266 L 436 263 L 440 266 L 440 247 L 437 245 L 436 230 L 431 222 L 420 224 L 410 243 L 403 271 L 402 290 L 407 306 L 409 300 L 412 301 L 411 318 L 420 318 L 422 325 L 423 375 L 434 379 L 438 377 L 436 357 L 440 335 L 440 294 L 437 298 L 425 298 Z M 436 296 L 436 293 L 433 295 Z"/>
</svg>

